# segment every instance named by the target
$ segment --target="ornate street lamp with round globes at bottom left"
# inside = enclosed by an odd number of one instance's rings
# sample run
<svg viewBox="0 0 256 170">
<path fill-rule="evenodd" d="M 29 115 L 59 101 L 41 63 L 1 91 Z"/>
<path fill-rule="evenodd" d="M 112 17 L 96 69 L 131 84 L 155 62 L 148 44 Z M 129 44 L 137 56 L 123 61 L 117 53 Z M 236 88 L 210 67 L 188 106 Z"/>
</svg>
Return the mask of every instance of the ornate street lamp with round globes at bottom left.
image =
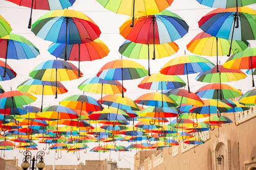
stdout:
<svg viewBox="0 0 256 170">
<path fill-rule="evenodd" d="M 33 158 L 31 156 L 31 152 L 30 151 L 24 151 L 23 155 L 25 156 L 24 161 L 22 162 L 22 165 L 21 165 L 23 170 L 27 170 L 28 168 L 30 170 L 36 170 L 36 167 L 39 170 L 42 170 L 46 166 L 46 164 L 44 162 L 44 156 L 45 156 L 45 152 L 44 151 L 37 152 L 36 153 L 36 157 L 33 156 Z M 37 163 L 37 160 L 39 160 L 38 163 Z M 30 167 L 31 164 L 32 164 L 32 167 Z M 35 165 L 36 165 L 36 167 L 35 167 Z"/>
</svg>

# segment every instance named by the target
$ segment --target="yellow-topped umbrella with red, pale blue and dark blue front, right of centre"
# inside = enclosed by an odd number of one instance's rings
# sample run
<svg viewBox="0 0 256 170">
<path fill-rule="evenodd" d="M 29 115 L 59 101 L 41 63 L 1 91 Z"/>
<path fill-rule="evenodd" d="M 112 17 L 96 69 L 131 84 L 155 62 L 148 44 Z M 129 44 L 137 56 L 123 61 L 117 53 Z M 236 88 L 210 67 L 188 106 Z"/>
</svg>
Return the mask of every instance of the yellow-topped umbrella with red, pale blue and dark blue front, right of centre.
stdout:
<svg viewBox="0 0 256 170">
<path fill-rule="evenodd" d="M 186 83 L 176 75 L 164 75 L 161 73 L 155 73 L 151 76 L 146 76 L 138 84 L 139 88 L 148 90 L 168 90 L 184 87 Z"/>
</svg>

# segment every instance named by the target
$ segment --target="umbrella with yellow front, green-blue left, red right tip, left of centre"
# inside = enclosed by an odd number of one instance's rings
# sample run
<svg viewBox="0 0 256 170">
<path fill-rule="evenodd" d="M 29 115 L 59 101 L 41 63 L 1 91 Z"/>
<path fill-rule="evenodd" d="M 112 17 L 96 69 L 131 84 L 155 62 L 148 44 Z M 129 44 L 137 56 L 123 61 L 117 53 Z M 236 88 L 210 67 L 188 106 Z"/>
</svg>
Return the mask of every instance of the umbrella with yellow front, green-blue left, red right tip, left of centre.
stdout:
<svg viewBox="0 0 256 170">
<path fill-rule="evenodd" d="M 66 87 L 64 87 L 60 82 L 41 81 L 37 79 L 26 80 L 25 82 L 17 86 L 17 90 L 27 93 L 41 94 L 42 100 L 44 98 L 44 95 L 54 95 L 55 91 L 57 91 L 57 94 L 63 94 L 68 92 Z"/>
</svg>

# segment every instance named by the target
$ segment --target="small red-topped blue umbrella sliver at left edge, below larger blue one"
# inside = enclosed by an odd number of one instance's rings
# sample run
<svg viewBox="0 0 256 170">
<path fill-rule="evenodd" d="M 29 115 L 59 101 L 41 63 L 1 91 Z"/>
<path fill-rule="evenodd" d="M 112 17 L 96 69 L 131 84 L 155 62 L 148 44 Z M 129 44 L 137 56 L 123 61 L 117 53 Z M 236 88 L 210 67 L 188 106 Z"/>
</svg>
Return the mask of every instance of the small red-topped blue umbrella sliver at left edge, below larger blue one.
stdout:
<svg viewBox="0 0 256 170">
<path fill-rule="evenodd" d="M 15 78 L 17 74 L 6 62 L 0 60 L 0 75 L 0 81 L 6 81 Z"/>
</svg>

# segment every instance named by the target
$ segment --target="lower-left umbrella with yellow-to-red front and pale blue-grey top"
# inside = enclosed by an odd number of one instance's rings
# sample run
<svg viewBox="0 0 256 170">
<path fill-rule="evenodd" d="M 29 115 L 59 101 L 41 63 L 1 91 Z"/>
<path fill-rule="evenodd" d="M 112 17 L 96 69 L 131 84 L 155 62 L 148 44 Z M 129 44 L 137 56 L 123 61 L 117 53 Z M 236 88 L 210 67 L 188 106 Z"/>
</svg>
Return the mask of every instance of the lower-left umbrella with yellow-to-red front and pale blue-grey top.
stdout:
<svg viewBox="0 0 256 170">
<path fill-rule="evenodd" d="M 65 106 L 61 105 L 53 105 L 53 106 L 48 106 L 42 109 L 42 112 L 38 112 L 37 115 L 49 119 L 54 119 L 54 120 L 60 120 L 60 119 L 73 119 L 73 118 L 78 118 L 77 113 Z M 56 126 L 56 136 L 59 137 L 61 134 L 58 134 L 58 121 L 57 121 L 57 126 Z"/>
</svg>

